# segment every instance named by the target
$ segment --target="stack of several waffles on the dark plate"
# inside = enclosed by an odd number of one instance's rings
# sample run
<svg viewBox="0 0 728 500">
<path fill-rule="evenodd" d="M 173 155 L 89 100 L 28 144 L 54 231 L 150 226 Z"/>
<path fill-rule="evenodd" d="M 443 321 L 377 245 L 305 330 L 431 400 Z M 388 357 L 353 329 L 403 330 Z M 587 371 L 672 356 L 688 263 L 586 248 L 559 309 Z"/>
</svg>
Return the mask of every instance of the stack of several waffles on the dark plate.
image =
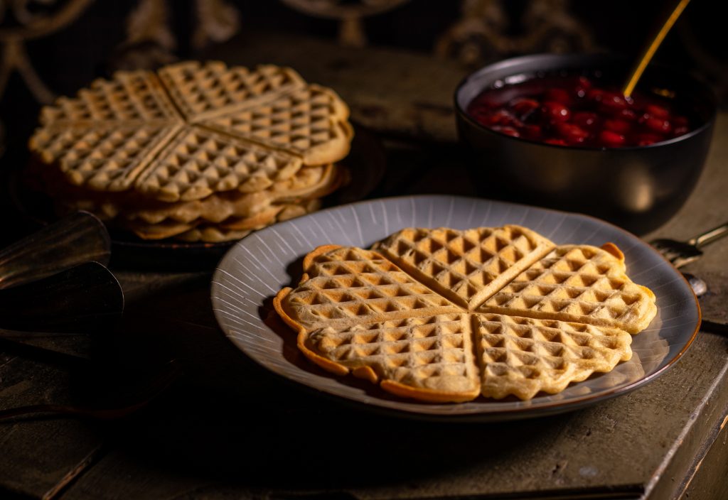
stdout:
<svg viewBox="0 0 728 500">
<path fill-rule="evenodd" d="M 347 105 L 290 68 L 119 72 L 41 110 L 36 180 L 141 238 L 227 241 L 320 206 L 345 175 Z"/>
</svg>

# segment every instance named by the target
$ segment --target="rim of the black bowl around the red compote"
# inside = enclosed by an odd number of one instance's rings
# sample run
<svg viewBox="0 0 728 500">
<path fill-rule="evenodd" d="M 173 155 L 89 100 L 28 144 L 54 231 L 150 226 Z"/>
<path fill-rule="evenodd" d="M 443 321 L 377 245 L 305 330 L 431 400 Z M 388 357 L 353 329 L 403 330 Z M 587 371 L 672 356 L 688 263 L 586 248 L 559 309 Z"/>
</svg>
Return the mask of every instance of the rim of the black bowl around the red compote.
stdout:
<svg viewBox="0 0 728 500">
<path fill-rule="evenodd" d="M 455 115 L 456 118 L 459 120 L 467 121 L 472 126 L 475 126 L 476 129 L 481 130 L 483 132 L 486 132 L 486 134 L 493 134 L 495 137 L 503 138 L 505 140 L 511 140 L 515 142 L 525 142 L 530 145 L 536 145 L 536 146 L 543 146 L 545 148 L 555 148 L 557 150 L 563 150 L 563 151 L 569 151 L 569 150 L 582 150 L 582 151 L 643 151 L 643 150 L 650 150 L 650 149 L 657 149 L 657 148 L 663 148 L 667 145 L 673 145 L 678 142 L 684 142 L 686 140 L 691 139 L 692 137 L 695 137 L 699 134 L 702 134 L 706 130 L 712 129 L 713 124 L 716 121 L 716 116 L 718 114 L 718 100 L 716 97 L 715 92 L 711 88 L 710 85 L 708 85 L 705 81 L 703 81 L 702 78 L 699 78 L 695 74 L 693 74 L 690 71 L 681 70 L 680 68 L 677 68 L 676 66 L 670 66 L 665 65 L 659 62 L 651 62 L 648 66 L 648 68 L 654 68 L 656 70 L 663 70 L 663 71 L 672 71 L 674 73 L 681 74 L 684 76 L 684 78 L 687 78 L 692 83 L 696 84 L 697 86 L 702 87 L 703 94 L 705 95 L 706 100 L 709 103 L 708 108 L 710 108 L 710 112 L 708 117 L 705 119 L 704 123 L 700 126 L 697 126 L 695 129 L 692 129 L 690 132 L 687 132 L 687 134 L 682 134 L 677 137 L 670 137 L 668 140 L 663 140 L 660 142 L 653 142 L 649 145 L 644 146 L 625 146 L 623 148 L 607 148 L 606 146 L 581 146 L 581 145 L 569 145 L 569 146 L 562 146 L 562 145 L 555 145 L 555 144 L 549 144 L 548 142 L 541 142 L 538 140 L 531 140 L 526 139 L 524 137 L 513 137 L 507 134 L 502 134 L 500 132 L 497 132 L 493 129 L 489 129 L 487 126 L 481 125 L 478 123 L 478 121 L 475 120 L 472 116 L 470 116 L 470 113 L 467 112 L 461 105 L 460 105 L 460 94 L 462 93 L 463 89 L 467 87 L 468 84 L 470 84 L 474 79 L 478 78 L 478 76 L 482 75 L 482 73 L 489 73 L 491 71 L 496 70 L 506 70 L 508 68 L 518 68 L 521 65 L 525 64 L 526 62 L 538 62 L 538 61 L 546 61 L 546 60 L 553 60 L 554 62 L 562 62 L 563 65 L 568 65 L 569 62 L 577 62 L 580 60 L 593 60 L 594 62 L 598 62 L 599 60 L 604 60 L 605 62 L 610 62 L 612 64 L 618 63 L 618 62 L 629 62 L 630 60 L 628 57 L 625 57 L 624 55 L 614 54 L 610 52 L 571 52 L 566 54 L 553 54 L 553 53 L 538 53 L 538 54 L 528 54 L 528 55 L 520 55 L 516 57 L 508 57 L 504 60 L 499 60 L 495 62 L 491 62 L 487 65 L 481 66 L 477 70 L 472 71 L 471 73 L 468 73 L 464 78 L 462 78 L 457 86 L 455 87 L 455 92 L 453 95 L 454 105 L 455 105 Z M 549 70 L 562 70 L 565 68 L 559 68 L 558 66 L 554 68 L 550 68 Z M 539 71 L 539 70 L 529 70 L 529 71 Z M 515 76 L 518 74 L 518 71 L 514 70 L 513 73 L 510 73 L 510 75 L 499 77 L 498 79 L 504 79 L 508 76 Z M 480 88 L 478 90 L 478 94 L 480 92 L 483 92 L 484 87 Z M 476 94 L 476 95 L 478 95 Z M 470 102 L 468 102 L 470 104 Z"/>
</svg>

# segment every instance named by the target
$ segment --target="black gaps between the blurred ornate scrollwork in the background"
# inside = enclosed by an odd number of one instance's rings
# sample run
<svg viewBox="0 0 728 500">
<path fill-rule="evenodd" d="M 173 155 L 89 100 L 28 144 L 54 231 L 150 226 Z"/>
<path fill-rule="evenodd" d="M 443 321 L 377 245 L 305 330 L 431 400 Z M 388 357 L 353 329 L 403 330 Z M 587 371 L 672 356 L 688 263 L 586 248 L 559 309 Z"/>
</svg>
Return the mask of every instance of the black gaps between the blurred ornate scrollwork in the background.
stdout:
<svg viewBox="0 0 728 500">
<path fill-rule="evenodd" d="M 68 0 L 25 0 L 31 12 L 52 14 Z M 510 23 L 509 36 L 523 33 L 521 17 L 532 1 L 501 0 Z M 232 39 L 223 41 L 226 53 L 232 47 L 250 47 L 256 44 L 256 33 L 285 33 L 310 36 L 337 43 L 339 23 L 336 20 L 312 17 L 289 7 L 282 1 L 227 0 L 240 13 L 240 28 Z M 23 3 L 22 1 L 20 3 Z M 342 5 L 356 4 L 353 0 L 339 1 Z M 58 95 L 73 95 L 98 77 L 108 77 L 119 68 L 128 69 L 139 62 L 154 67 L 162 62 L 155 42 L 130 46 L 127 38 L 127 19 L 139 2 L 137 0 L 97 0 L 87 7 L 73 23 L 37 39 L 24 41 L 24 47 L 33 68 L 44 84 Z M 2 30 L 20 26 L 12 16 L 9 3 L 0 3 L 0 42 Z M 170 11 L 169 27 L 177 46 L 166 50 L 171 60 L 215 58 L 221 44 L 210 42 L 205 47 L 191 44 L 191 33 L 196 25 L 196 2 L 167 0 Z M 388 12 L 363 20 L 368 47 L 393 47 L 432 55 L 436 41 L 462 16 L 460 1 L 410 0 Z M 646 41 L 665 19 L 673 1 L 609 2 L 563 1 L 571 17 L 586 28 L 592 36 L 590 50 L 611 51 L 637 57 Z M 715 4 L 693 1 L 670 32 L 655 56 L 657 62 L 686 68 L 705 79 L 716 90 L 721 108 L 728 103 L 728 62 L 724 51 L 724 18 L 716 15 Z M 142 55 L 130 59 L 130 52 Z M 148 55 L 144 60 L 144 55 Z M 513 53 L 490 54 L 481 62 L 505 58 Z M 1 55 L 0 55 L 1 57 Z M 433 57 L 435 57 L 433 55 Z M 141 61 L 141 62 L 140 62 Z M 382 78 L 386 78 L 382 75 Z M 27 161 L 26 143 L 37 124 L 41 103 L 37 102 L 23 79 L 17 74 L 9 76 L 7 88 L 0 95 L 0 174 L 9 166 Z M 6 205 L 4 199 L 2 205 Z"/>
</svg>

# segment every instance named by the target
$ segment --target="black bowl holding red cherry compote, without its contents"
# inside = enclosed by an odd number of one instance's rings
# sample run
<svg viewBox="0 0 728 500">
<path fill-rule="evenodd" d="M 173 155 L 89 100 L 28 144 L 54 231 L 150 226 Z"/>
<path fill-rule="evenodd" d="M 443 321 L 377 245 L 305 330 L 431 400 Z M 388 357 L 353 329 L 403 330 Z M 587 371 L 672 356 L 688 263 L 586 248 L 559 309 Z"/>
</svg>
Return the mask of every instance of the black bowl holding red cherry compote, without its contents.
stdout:
<svg viewBox="0 0 728 500">
<path fill-rule="evenodd" d="M 510 137 L 478 124 L 467 113 L 484 89 L 531 77 L 561 73 L 625 80 L 632 62 L 612 55 L 528 55 L 496 62 L 465 78 L 455 92 L 459 137 L 478 193 L 578 211 L 607 219 L 634 233 L 659 227 L 682 206 L 705 164 L 713 134 L 716 99 L 711 89 L 683 70 L 650 65 L 637 89 L 667 89 L 676 104 L 691 110 L 691 132 L 652 145 L 627 148 L 559 146 Z"/>
</svg>

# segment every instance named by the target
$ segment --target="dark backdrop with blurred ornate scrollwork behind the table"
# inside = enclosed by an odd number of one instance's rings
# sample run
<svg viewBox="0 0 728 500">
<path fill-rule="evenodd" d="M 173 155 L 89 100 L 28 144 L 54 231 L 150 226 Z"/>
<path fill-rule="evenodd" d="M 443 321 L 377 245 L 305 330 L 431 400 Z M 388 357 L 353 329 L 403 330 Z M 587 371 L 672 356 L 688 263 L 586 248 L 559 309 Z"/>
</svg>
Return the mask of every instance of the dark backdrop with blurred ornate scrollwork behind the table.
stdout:
<svg viewBox="0 0 728 500">
<path fill-rule="evenodd" d="M 725 103 L 728 65 L 716 50 L 721 31 L 709 7 L 693 2 L 661 51 L 700 70 Z M 222 42 L 254 44 L 244 36 L 251 30 L 392 45 L 477 66 L 529 52 L 637 50 L 657 17 L 654 6 L 629 0 L 601 7 L 570 0 L 0 0 L 0 137 L 3 129 L 23 133 L 56 93 L 112 70 L 196 57 Z"/>
</svg>

